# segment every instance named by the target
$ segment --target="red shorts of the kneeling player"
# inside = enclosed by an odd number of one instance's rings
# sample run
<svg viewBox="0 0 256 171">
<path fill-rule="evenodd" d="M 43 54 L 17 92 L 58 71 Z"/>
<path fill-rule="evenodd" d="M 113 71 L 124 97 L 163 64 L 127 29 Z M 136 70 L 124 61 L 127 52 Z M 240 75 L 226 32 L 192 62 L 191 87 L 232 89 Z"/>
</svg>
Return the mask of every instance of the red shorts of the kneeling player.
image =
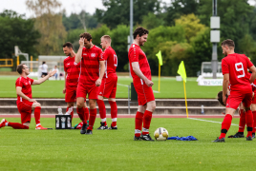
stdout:
<svg viewBox="0 0 256 171">
<path fill-rule="evenodd" d="M 32 102 L 20 102 L 17 104 L 19 113 L 21 115 L 21 123 L 31 123 L 32 118 Z"/>
</svg>

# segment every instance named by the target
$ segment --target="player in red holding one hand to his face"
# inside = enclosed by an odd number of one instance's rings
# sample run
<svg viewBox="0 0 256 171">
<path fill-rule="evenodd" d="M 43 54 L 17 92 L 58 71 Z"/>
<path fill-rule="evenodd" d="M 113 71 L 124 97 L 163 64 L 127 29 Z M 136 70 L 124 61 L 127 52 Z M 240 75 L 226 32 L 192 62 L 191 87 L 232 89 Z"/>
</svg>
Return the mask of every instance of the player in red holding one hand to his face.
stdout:
<svg viewBox="0 0 256 171">
<path fill-rule="evenodd" d="M 96 100 L 99 85 L 105 73 L 105 62 L 102 50 L 92 43 L 92 35 L 88 32 L 82 33 L 79 40 L 79 49 L 75 55 L 75 63 L 81 62 L 81 71 L 76 90 L 77 113 L 84 113 L 84 101 L 88 94 L 90 117 L 89 126 L 83 123 L 81 134 L 93 134 L 93 126 L 96 121 Z M 100 73 L 99 73 L 100 70 Z"/>
</svg>

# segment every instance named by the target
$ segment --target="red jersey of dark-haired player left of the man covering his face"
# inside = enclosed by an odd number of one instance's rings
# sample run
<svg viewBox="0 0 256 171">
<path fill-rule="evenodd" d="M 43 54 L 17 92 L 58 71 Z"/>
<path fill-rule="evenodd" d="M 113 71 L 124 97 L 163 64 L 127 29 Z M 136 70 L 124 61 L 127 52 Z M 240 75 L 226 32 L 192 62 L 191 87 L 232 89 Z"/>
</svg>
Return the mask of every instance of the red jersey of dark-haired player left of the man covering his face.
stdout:
<svg viewBox="0 0 256 171">
<path fill-rule="evenodd" d="M 64 59 L 64 71 L 67 72 L 66 88 L 77 87 L 80 74 L 80 63 L 75 63 L 75 57 L 68 56 Z"/>
</svg>

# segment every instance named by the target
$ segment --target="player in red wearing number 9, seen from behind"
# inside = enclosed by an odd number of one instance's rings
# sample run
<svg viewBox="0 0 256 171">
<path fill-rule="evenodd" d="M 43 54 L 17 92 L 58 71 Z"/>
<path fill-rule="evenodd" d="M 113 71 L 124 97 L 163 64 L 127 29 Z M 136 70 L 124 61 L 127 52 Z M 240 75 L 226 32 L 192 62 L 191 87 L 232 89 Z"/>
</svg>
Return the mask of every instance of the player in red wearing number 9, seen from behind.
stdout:
<svg viewBox="0 0 256 171">
<path fill-rule="evenodd" d="M 252 141 L 253 115 L 250 110 L 252 100 L 252 89 L 250 84 L 256 78 L 256 68 L 245 55 L 234 52 L 235 43 L 232 40 L 224 40 L 222 48 L 225 56 L 222 60 L 225 117 L 224 122 L 222 123 L 221 135 L 213 142 L 224 142 L 226 132 L 232 122 L 232 117 L 241 102 L 243 102 L 245 106 L 245 123 L 247 125 L 246 141 Z M 247 68 L 252 72 L 251 76 L 249 76 Z M 226 99 L 225 94 L 229 82 L 230 95 Z"/>
</svg>

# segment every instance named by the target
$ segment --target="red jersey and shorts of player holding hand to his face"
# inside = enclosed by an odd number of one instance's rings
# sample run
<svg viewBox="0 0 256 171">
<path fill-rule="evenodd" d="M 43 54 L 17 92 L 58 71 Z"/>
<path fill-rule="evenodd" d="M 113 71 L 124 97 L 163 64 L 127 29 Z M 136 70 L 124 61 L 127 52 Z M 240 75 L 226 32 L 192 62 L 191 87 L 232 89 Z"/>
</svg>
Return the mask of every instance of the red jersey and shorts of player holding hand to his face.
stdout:
<svg viewBox="0 0 256 171">
<path fill-rule="evenodd" d="M 88 94 L 89 99 L 97 99 L 99 86 L 96 86 L 96 80 L 99 77 L 99 61 L 104 61 L 101 48 L 83 47 L 76 97 L 86 99 Z"/>
</svg>

